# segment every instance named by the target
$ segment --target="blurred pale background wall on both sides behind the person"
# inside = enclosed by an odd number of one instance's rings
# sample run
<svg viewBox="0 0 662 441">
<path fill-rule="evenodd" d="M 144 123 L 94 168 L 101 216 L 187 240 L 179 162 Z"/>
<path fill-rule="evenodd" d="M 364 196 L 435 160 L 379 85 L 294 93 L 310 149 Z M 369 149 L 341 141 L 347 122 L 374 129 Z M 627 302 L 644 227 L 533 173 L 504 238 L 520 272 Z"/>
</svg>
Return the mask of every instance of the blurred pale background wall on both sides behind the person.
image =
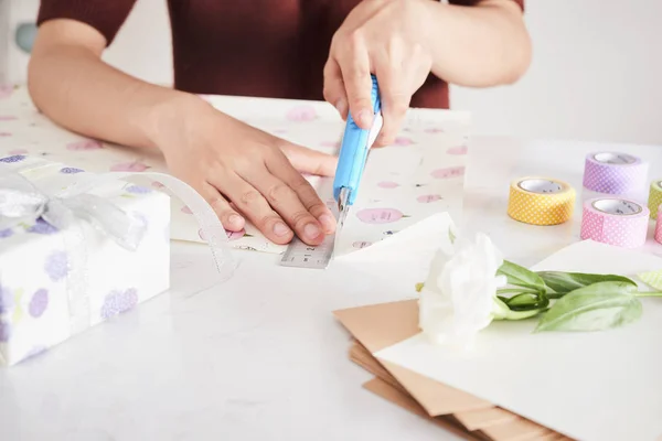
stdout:
<svg viewBox="0 0 662 441">
<path fill-rule="evenodd" d="M 38 7 L 0 0 L 0 82 L 25 80 Z M 534 58 L 524 78 L 451 88 L 474 135 L 662 144 L 662 1 L 527 0 L 525 20 Z M 170 50 L 166 0 L 138 0 L 105 58 L 171 84 Z"/>
</svg>

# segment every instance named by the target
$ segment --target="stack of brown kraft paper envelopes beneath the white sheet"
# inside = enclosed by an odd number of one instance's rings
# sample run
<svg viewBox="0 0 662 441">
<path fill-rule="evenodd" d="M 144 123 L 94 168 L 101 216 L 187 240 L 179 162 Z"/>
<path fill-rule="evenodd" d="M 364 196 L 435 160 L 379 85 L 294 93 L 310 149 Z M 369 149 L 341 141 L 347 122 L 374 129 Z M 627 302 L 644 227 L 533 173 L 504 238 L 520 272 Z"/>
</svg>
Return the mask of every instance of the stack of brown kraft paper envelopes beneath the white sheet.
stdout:
<svg viewBox="0 0 662 441">
<path fill-rule="evenodd" d="M 402 399 L 394 400 L 389 397 L 394 397 L 395 394 L 408 396 L 425 410 L 429 418 L 451 417 L 467 431 L 472 431 L 472 434 L 478 437 L 474 439 L 498 441 L 567 439 L 525 418 L 498 408 L 489 401 L 373 357 L 372 353 L 419 333 L 416 300 L 352 308 L 335 311 L 334 314 L 361 343 L 352 347 L 350 353 L 352 361 L 382 381 L 377 391 L 373 390 L 374 384 L 371 386 L 371 390 L 377 395 L 398 405 Z M 366 388 L 370 389 L 367 386 Z M 382 394 L 386 388 L 389 388 L 388 396 Z M 410 406 L 402 407 L 412 410 Z"/>
</svg>

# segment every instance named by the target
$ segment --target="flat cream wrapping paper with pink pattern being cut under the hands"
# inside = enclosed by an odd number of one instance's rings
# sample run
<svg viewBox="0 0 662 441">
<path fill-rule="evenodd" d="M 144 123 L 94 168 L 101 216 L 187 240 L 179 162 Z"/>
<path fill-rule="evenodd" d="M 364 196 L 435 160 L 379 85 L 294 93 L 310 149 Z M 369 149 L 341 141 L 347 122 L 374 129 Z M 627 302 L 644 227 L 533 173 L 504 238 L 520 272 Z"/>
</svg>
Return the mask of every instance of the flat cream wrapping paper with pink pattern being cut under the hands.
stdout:
<svg viewBox="0 0 662 441">
<path fill-rule="evenodd" d="M 254 127 L 308 148 L 335 154 L 344 122 L 327 103 L 201 96 L 215 108 Z M 395 143 L 374 149 L 359 197 L 342 230 L 337 256 L 387 239 L 433 214 L 461 214 L 470 118 L 466 112 L 410 109 Z M 154 152 L 121 148 L 63 130 L 40 115 L 23 87 L 0 88 L 0 158 L 34 154 L 90 172 L 163 172 Z M 333 204 L 331 180 L 307 176 Z M 160 187 L 158 182 L 147 183 Z M 203 241 L 190 209 L 172 198 L 171 238 Z M 228 234 L 234 248 L 282 252 L 253 225 Z"/>
</svg>

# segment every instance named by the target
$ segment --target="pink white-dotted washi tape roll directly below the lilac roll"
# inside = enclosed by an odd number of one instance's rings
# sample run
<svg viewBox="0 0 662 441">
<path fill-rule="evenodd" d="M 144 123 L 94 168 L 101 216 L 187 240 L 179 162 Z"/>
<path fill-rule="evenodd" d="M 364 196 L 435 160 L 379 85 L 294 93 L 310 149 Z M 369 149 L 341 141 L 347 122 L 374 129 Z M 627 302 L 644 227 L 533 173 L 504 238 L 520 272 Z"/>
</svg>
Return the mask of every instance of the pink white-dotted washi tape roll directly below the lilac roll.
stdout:
<svg viewBox="0 0 662 441">
<path fill-rule="evenodd" d="M 581 216 L 583 240 L 591 239 L 622 248 L 645 243 L 650 211 L 633 201 L 602 197 L 586 201 Z"/>
</svg>

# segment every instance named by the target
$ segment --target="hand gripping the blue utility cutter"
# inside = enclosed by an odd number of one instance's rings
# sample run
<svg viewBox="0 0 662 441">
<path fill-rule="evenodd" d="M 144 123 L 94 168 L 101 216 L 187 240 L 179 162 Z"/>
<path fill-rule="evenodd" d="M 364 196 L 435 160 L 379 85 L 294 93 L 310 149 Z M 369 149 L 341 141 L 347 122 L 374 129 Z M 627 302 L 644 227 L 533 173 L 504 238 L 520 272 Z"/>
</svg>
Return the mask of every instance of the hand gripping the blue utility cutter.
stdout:
<svg viewBox="0 0 662 441">
<path fill-rule="evenodd" d="M 433 66 L 426 47 L 429 0 L 364 0 L 333 35 L 324 66 L 324 99 L 363 129 L 373 120 L 372 80 L 380 83 L 384 126 L 375 146 L 393 143 L 414 93 Z"/>
</svg>

